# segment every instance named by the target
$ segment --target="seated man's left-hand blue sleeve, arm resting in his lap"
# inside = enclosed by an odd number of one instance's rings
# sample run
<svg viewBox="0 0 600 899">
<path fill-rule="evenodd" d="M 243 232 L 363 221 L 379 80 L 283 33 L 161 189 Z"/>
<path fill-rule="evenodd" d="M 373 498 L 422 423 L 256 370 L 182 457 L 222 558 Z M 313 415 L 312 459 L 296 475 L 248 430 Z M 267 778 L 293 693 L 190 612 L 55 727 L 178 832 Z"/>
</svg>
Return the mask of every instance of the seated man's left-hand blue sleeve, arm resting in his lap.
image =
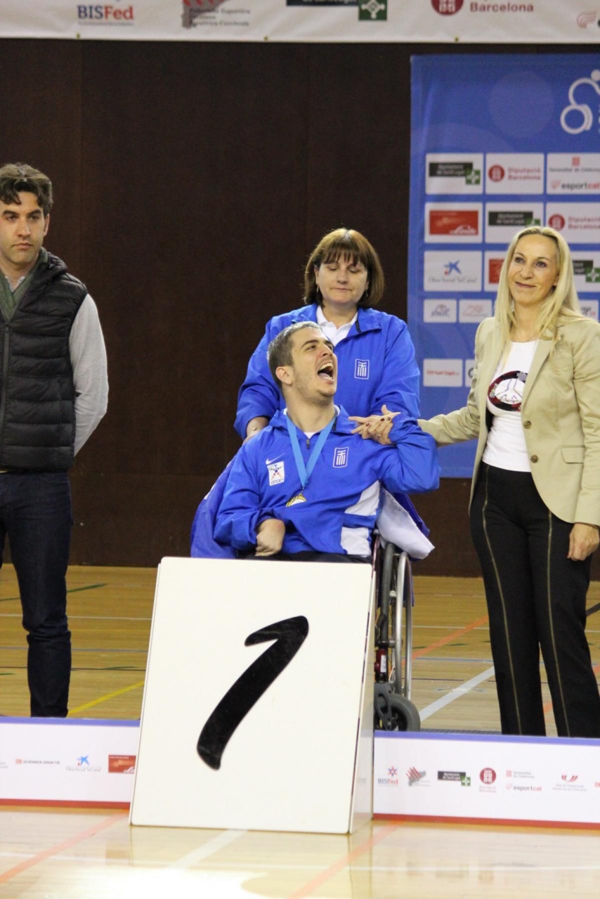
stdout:
<svg viewBox="0 0 600 899">
<path fill-rule="evenodd" d="M 256 528 L 273 510 L 260 508 L 260 484 L 256 474 L 254 437 L 237 453 L 215 520 L 214 536 L 219 543 L 236 549 L 256 546 Z"/>
</svg>

